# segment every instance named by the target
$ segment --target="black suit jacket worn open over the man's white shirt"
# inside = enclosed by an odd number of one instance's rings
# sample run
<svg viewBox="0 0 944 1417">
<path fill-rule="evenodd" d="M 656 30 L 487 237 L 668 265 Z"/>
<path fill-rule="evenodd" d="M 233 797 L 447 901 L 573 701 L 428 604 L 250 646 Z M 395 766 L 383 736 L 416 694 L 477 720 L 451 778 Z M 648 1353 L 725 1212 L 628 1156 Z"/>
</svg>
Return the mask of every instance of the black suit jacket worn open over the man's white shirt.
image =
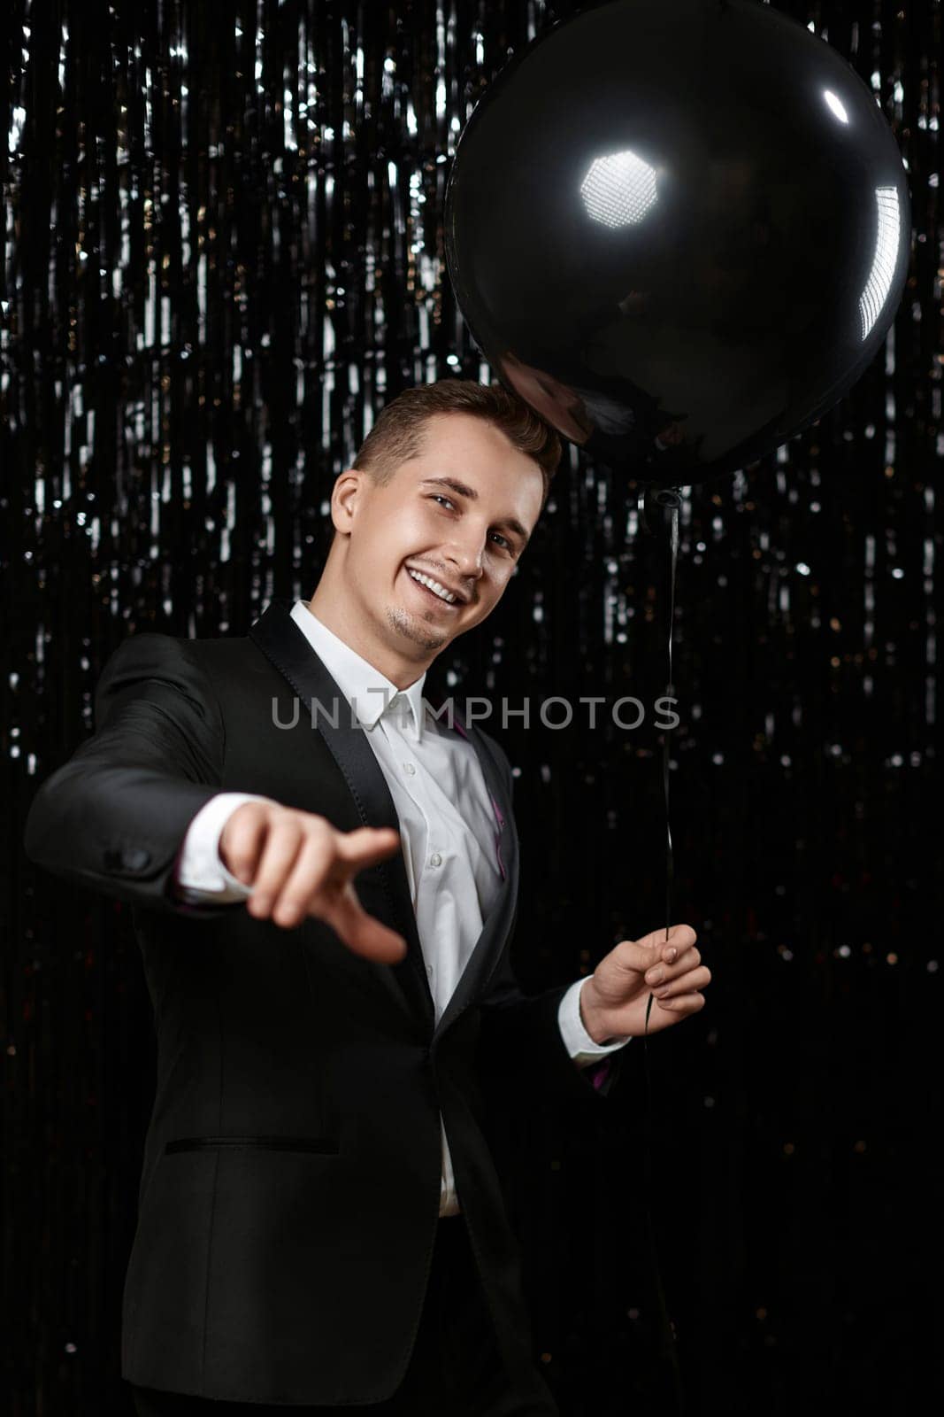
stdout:
<svg viewBox="0 0 944 1417">
<path fill-rule="evenodd" d="M 338 727 L 311 704 L 341 704 Z M 296 718 L 296 697 L 300 700 Z M 525 996 L 508 962 L 518 893 L 511 769 L 467 727 L 504 816 L 507 876 L 433 1026 L 401 853 L 358 874 L 408 941 L 378 965 L 314 918 L 173 894 L 184 835 L 215 792 L 399 822 L 367 735 L 277 599 L 243 638 L 143 633 L 109 659 L 96 731 L 41 786 L 25 847 L 134 907 L 157 1029 L 157 1093 L 122 1315 L 132 1383 L 258 1403 L 376 1403 L 405 1372 L 440 1195 L 442 1110 L 460 1204 L 512 1372 L 534 1382 L 519 1250 L 487 1141 L 488 1078 L 511 1100 L 603 1088 L 568 1056 L 563 988 Z M 459 1221 L 451 1221 L 459 1223 Z"/>
</svg>

